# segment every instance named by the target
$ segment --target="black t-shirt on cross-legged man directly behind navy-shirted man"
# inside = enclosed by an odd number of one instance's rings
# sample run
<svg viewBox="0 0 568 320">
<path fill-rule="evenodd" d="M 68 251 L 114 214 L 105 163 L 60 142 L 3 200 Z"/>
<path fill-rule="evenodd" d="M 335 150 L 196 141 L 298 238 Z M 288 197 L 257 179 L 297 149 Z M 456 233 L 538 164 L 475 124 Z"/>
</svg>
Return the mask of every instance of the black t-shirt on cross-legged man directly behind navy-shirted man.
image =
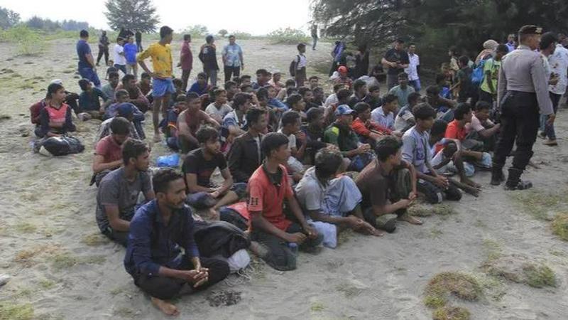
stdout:
<svg viewBox="0 0 568 320">
<path fill-rule="evenodd" d="M 213 159 L 205 160 L 202 149 L 195 149 L 185 157 L 183 161 L 183 174 L 196 174 L 197 185 L 209 188 L 211 186 L 211 175 L 219 167 L 219 170 L 226 168 L 226 160 L 222 153 L 216 154 Z"/>
</svg>

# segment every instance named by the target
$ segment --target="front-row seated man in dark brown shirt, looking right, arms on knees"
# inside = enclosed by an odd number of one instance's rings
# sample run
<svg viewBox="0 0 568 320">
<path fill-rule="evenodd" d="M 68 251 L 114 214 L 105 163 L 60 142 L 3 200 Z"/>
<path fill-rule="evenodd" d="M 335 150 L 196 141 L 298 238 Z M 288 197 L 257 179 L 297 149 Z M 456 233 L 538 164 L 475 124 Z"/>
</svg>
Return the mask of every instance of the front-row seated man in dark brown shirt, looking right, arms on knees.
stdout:
<svg viewBox="0 0 568 320">
<path fill-rule="evenodd" d="M 400 139 L 395 137 L 385 137 L 377 142 L 377 159 L 355 179 L 363 195 L 364 216 L 371 225 L 376 225 L 376 218 L 388 214 L 398 215 L 398 220 L 414 225 L 422 224 L 406 210 L 416 198 L 416 174 L 411 164 L 401 160 L 402 146 Z M 393 232 L 394 220 L 383 221 L 380 228 Z"/>
</svg>

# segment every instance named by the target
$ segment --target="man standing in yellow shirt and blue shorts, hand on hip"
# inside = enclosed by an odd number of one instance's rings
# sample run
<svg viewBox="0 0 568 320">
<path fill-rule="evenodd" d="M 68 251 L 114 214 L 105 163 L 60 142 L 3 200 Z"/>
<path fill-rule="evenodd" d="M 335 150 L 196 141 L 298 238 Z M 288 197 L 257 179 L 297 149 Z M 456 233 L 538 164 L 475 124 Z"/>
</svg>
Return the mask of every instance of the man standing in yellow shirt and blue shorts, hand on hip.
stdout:
<svg viewBox="0 0 568 320">
<path fill-rule="evenodd" d="M 154 124 L 154 142 L 160 142 L 160 110 L 165 119 L 168 112 L 168 102 L 170 94 L 175 92 L 172 82 L 172 50 L 170 43 L 173 39 L 173 30 L 168 26 L 160 28 L 160 41 L 153 43 L 142 53 L 138 54 L 138 64 L 153 78 L 152 96 L 154 97 L 152 107 L 152 120 Z M 144 60 L 152 58 L 153 72 L 148 69 Z"/>
</svg>

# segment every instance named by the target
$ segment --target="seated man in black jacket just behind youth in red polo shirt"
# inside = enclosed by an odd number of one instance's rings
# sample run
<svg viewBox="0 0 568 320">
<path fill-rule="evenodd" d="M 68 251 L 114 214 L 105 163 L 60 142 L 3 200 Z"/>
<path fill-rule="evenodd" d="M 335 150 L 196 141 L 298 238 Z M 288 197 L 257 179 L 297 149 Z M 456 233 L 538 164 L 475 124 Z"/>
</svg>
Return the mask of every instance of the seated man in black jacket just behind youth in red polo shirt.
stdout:
<svg viewBox="0 0 568 320">
<path fill-rule="evenodd" d="M 235 182 L 247 182 L 253 172 L 262 164 L 264 154 L 261 150 L 263 132 L 266 132 L 268 119 L 266 110 L 251 108 L 246 112 L 247 132 L 234 139 L 227 159 L 229 170 Z"/>
</svg>

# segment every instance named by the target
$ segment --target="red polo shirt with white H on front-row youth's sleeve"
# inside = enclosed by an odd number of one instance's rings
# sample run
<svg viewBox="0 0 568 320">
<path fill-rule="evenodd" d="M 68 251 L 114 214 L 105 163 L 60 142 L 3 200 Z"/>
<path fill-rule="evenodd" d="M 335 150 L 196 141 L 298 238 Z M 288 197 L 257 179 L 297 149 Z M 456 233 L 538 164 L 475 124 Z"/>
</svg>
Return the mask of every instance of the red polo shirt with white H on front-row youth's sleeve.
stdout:
<svg viewBox="0 0 568 320">
<path fill-rule="evenodd" d="M 275 186 L 270 181 L 270 178 L 264 172 L 263 166 L 259 166 L 253 172 L 249 179 L 249 186 L 247 186 L 247 191 L 249 191 L 247 208 L 249 212 L 261 211 L 263 218 L 276 228 L 285 231 L 292 222 L 286 219 L 282 211 L 282 205 L 284 198 L 292 198 L 294 193 L 290 183 L 288 183 L 288 171 L 282 165 L 280 165 L 280 169 L 282 169 L 282 178 L 279 186 Z"/>
</svg>

